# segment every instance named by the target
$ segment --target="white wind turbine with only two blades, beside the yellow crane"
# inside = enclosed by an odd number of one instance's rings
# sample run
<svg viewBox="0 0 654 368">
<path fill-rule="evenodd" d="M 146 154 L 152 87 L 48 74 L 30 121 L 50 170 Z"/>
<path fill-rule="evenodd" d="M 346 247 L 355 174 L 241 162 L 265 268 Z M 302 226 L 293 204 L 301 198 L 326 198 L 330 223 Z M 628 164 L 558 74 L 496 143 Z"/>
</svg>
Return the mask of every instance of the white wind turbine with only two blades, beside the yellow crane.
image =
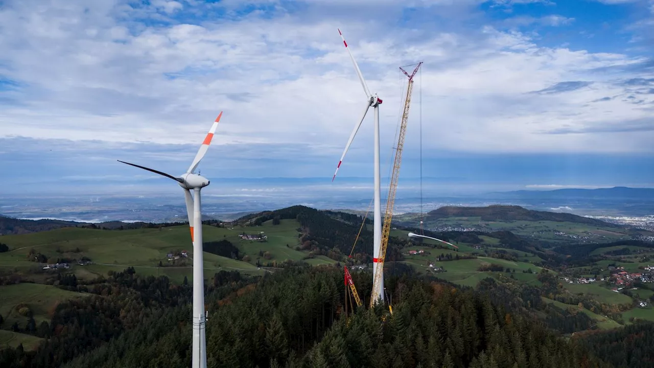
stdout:
<svg viewBox="0 0 654 368">
<path fill-rule="evenodd" d="M 368 85 L 366 84 L 366 81 L 364 80 L 364 76 L 361 74 L 361 70 L 359 69 L 359 65 L 356 64 L 356 60 L 354 60 L 354 56 L 352 55 L 352 52 L 350 51 L 350 48 L 347 46 L 347 42 L 345 42 L 345 37 L 343 37 L 343 33 L 341 33 L 341 29 L 338 30 L 339 35 L 341 35 L 341 39 L 343 39 L 343 45 L 345 45 L 345 48 L 347 49 L 347 52 L 350 54 L 350 58 L 352 59 L 352 64 L 354 64 L 354 69 L 356 70 L 356 75 L 359 77 L 359 81 L 361 82 L 361 86 L 364 88 L 364 92 L 366 93 L 366 109 L 364 109 L 364 114 L 361 117 L 361 120 L 354 125 L 354 130 L 352 131 L 352 134 L 350 134 L 350 139 L 347 140 L 347 145 L 345 145 L 345 150 L 343 151 L 343 155 L 341 156 L 341 160 L 338 162 L 338 166 L 336 166 L 336 172 L 334 172 L 334 177 L 332 177 L 332 181 L 334 181 L 334 178 L 336 178 L 336 174 L 338 172 L 338 169 L 341 167 L 341 164 L 343 163 L 343 158 L 345 158 L 345 154 L 347 153 L 347 150 L 350 148 L 350 145 L 352 144 L 352 141 L 354 139 L 354 136 L 356 136 L 356 132 L 359 130 L 361 123 L 364 121 L 366 118 L 366 114 L 368 113 L 368 109 L 370 107 L 375 108 L 375 210 L 374 210 L 374 217 L 373 217 L 373 268 L 372 268 L 372 278 L 373 278 L 373 284 L 375 280 L 375 274 L 377 272 L 377 259 L 379 259 L 379 248 L 381 248 L 381 199 L 380 199 L 380 193 L 381 193 L 381 178 L 379 176 L 379 105 L 381 105 L 381 99 L 377 96 L 377 94 L 371 94 L 370 90 L 368 89 Z M 378 285 L 379 289 L 377 289 L 377 293 L 373 290 L 373 295 L 379 295 L 378 301 L 384 301 L 384 278 L 381 278 L 381 282 Z"/>
</svg>

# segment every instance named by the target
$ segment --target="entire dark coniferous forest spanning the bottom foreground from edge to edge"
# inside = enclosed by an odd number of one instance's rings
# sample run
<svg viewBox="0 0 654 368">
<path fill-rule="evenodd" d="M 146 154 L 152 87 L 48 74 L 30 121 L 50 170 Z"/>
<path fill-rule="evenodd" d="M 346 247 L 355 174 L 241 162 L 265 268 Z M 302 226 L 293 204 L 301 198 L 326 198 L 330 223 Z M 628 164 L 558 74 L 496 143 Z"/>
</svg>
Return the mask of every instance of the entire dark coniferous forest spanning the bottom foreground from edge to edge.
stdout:
<svg viewBox="0 0 654 368">
<path fill-rule="evenodd" d="M 353 278 L 366 295 L 370 274 Z M 289 267 L 260 278 L 221 271 L 207 284 L 209 367 L 651 366 L 653 325 L 566 339 L 551 327 L 587 322 L 554 312 L 534 318 L 524 308 L 529 289 L 509 293 L 492 279 L 474 290 L 389 276 L 392 316 L 379 307 L 347 318 L 335 267 Z M 58 306 L 41 348 L 3 350 L 0 366 L 190 365 L 189 285 L 127 269 L 88 291 L 95 296 Z"/>
</svg>

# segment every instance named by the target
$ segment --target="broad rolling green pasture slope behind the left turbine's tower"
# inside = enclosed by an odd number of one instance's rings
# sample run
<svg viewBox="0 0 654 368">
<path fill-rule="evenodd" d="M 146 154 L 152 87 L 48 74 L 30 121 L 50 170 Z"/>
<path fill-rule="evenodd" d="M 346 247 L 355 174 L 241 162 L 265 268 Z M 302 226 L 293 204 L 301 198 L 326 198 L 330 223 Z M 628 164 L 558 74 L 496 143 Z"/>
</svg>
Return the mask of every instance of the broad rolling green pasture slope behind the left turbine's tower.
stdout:
<svg viewBox="0 0 654 368">
<path fill-rule="evenodd" d="M 239 249 L 241 257 L 249 255 L 244 262 L 222 257 L 212 253 L 203 253 L 205 277 L 210 278 L 218 270 L 239 270 L 247 274 L 262 274 L 264 270 L 256 267 L 257 259 L 283 262 L 286 259 L 301 261 L 308 251 L 297 251 L 299 244 L 295 220 L 282 220 L 279 225 L 267 221 L 258 227 L 235 227 L 232 229 L 203 225 L 203 242 L 229 240 Z M 242 240 L 239 234 L 258 234 L 264 232 L 267 242 Z M 18 272 L 29 273 L 38 269 L 39 263 L 29 261 L 31 249 L 48 257 L 48 263 L 56 263 L 58 258 L 80 259 L 88 257 L 93 265 L 71 265 L 67 272 L 73 272 L 81 279 L 92 279 L 99 275 L 107 276 L 109 270 L 122 271 L 134 267 L 138 274 L 166 275 L 173 282 L 182 282 L 184 276 L 190 278 L 192 272 L 193 246 L 189 228 L 186 225 L 163 227 L 160 229 L 100 230 L 84 228 L 63 228 L 32 234 L 3 236 L 2 240 L 10 248 L 9 252 L 0 253 L 0 267 L 13 268 Z M 288 246 L 287 246 L 288 244 Z M 175 265 L 167 261 L 167 253 L 186 250 L 188 259 L 181 259 Z M 260 257 L 260 251 L 268 251 L 269 260 Z M 308 261 L 308 260 L 307 260 Z M 158 267 L 159 262 L 165 267 Z M 309 264 L 336 263 L 326 257 L 315 258 Z M 45 278 L 47 272 L 35 274 L 31 278 L 38 281 Z"/>
</svg>

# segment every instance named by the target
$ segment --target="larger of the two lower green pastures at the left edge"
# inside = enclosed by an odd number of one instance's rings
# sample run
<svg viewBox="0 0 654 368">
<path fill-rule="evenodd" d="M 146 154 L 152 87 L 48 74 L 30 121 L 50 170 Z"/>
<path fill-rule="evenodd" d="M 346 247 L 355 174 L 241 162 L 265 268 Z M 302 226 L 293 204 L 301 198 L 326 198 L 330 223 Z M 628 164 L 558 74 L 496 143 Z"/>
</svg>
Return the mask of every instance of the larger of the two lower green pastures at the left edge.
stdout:
<svg viewBox="0 0 654 368">
<path fill-rule="evenodd" d="M 9 329 L 14 322 L 18 322 L 22 328 L 27 323 L 27 316 L 20 314 L 16 308 L 19 304 L 26 304 L 38 326 L 43 321 L 50 322 L 49 314 L 58 303 L 90 294 L 62 290 L 52 285 L 22 283 L 1 285 L 0 295 L 0 314 L 4 319 L 0 328 Z"/>
</svg>

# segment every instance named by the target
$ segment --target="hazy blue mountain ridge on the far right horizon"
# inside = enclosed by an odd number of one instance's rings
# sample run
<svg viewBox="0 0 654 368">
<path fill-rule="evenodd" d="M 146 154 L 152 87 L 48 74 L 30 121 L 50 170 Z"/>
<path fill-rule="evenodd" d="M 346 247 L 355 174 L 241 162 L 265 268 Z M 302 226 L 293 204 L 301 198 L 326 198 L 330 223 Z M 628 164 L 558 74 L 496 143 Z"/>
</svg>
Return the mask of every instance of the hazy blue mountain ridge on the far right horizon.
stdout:
<svg viewBox="0 0 654 368">
<path fill-rule="evenodd" d="M 654 199 L 654 188 L 612 187 L 598 189 L 565 188 L 552 191 L 511 191 L 493 194 L 510 194 L 519 198 L 642 198 Z"/>
</svg>

